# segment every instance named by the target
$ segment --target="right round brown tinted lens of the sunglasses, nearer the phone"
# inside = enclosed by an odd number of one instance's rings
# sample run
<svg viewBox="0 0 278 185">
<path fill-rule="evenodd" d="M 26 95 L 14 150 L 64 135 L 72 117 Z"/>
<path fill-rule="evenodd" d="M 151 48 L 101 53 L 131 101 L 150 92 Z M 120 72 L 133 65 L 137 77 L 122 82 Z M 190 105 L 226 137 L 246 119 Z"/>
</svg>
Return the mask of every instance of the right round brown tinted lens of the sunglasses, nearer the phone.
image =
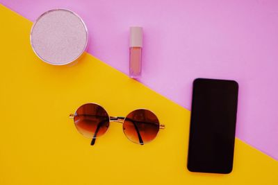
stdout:
<svg viewBox="0 0 278 185">
<path fill-rule="evenodd" d="M 126 116 L 123 129 L 126 137 L 134 143 L 148 143 L 156 137 L 159 121 L 149 110 L 137 109 Z"/>
</svg>

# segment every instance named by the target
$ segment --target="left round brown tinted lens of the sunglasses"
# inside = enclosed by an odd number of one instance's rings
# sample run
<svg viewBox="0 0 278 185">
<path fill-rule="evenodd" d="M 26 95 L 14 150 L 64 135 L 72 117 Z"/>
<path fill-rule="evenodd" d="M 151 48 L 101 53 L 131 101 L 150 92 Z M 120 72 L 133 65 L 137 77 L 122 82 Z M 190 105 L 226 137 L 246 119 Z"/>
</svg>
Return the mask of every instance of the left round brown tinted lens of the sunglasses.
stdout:
<svg viewBox="0 0 278 185">
<path fill-rule="evenodd" d="M 102 136 L 109 127 L 109 116 L 101 106 L 88 103 L 79 107 L 74 114 L 74 123 L 86 137 Z"/>
</svg>

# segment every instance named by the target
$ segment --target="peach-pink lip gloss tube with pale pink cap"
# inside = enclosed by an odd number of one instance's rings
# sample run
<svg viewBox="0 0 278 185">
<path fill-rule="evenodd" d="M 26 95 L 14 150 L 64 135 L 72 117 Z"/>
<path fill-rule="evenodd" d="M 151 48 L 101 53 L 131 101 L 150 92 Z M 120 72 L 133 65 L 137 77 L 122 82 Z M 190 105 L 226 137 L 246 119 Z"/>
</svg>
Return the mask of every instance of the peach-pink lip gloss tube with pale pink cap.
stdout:
<svg viewBox="0 0 278 185">
<path fill-rule="evenodd" d="M 134 26 L 129 30 L 129 77 L 139 78 L 142 69 L 142 27 Z"/>
</svg>

